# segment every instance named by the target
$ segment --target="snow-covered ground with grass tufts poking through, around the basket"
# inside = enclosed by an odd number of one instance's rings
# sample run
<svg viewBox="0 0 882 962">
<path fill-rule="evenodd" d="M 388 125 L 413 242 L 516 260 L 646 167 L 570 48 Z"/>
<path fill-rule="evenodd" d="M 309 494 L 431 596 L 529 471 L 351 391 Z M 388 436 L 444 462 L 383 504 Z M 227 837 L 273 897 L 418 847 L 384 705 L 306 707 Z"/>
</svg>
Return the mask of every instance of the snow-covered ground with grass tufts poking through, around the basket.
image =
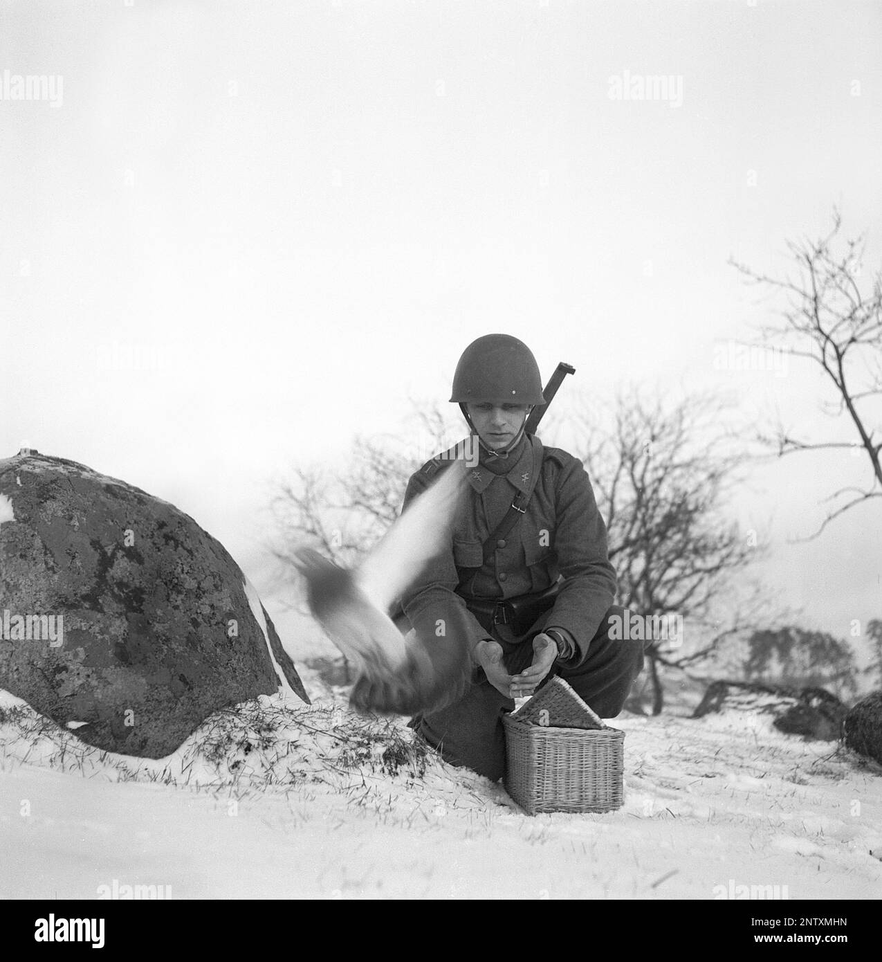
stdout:
<svg viewBox="0 0 882 962">
<path fill-rule="evenodd" d="M 4 695 L 0 898 L 882 896 L 882 770 L 766 716 L 623 715 L 624 806 L 529 817 L 303 675 L 312 707 L 249 702 L 160 761 Z"/>
</svg>

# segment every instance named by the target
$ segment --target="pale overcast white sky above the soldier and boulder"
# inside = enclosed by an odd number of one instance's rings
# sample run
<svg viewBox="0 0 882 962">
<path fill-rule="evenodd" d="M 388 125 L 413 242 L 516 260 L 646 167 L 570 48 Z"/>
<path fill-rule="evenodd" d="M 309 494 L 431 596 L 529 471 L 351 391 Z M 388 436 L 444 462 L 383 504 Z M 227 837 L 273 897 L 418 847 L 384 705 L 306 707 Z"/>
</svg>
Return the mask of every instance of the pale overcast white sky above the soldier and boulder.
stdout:
<svg viewBox="0 0 882 962">
<path fill-rule="evenodd" d="M 22 0 L 2 24 L 0 71 L 62 75 L 63 104 L 0 101 L 0 456 L 173 501 L 259 586 L 272 478 L 445 402 L 493 331 L 577 367 L 565 391 L 717 388 L 852 438 L 810 367 L 714 348 L 770 319 L 731 255 L 780 269 L 838 203 L 882 263 L 879 3 Z M 624 70 L 682 76 L 682 106 L 611 100 Z M 862 481 L 794 456 L 733 505 L 779 600 L 840 637 L 882 617 L 878 503 L 787 539 Z"/>
</svg>

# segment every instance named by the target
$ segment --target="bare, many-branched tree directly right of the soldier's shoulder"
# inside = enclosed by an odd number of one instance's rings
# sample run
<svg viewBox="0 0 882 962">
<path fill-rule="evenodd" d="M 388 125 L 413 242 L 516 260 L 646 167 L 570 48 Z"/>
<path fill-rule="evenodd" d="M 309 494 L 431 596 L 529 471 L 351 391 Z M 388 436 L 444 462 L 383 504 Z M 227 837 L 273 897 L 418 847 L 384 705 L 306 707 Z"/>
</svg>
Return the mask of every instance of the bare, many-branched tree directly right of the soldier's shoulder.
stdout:
<svg viewBox="0 0 882 962">
<path fill-rule="evenodd" d="M 724 642 L 757 626 L 762 592 L 731 604 L 734 576 L 764 548 L 743 534 L 723 505 L 743 467 L 743 453 L 723 427 L 724 405 L 713 395 L 666 403 L 656 394 L 619 395 L 598 416 L 582 405 L 573 453 L 582 458 L 607 522 L 618 602 L 643 618 L 681 616 L 704 641 L 676 646 L 647 638 L 652 713 L 664 706 L 662 667 L 687 669 Z"/>
</svg>

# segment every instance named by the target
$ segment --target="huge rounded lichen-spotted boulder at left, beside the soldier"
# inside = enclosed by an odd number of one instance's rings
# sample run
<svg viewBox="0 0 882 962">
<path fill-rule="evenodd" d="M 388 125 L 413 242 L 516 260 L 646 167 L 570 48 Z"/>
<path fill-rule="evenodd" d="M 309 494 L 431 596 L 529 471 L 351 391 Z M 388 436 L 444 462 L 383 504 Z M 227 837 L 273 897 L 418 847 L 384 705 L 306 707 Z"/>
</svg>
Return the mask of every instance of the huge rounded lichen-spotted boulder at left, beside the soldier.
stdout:
<svg viewBox="0 0 882 962">
<path fill-rule="evenodd" d="M 0 688 L 89 745 L 148 758 L 240 701 L 309 702 L 222 544 L 157 497 L 29 449 L 0 460 Z"/>
</svg>

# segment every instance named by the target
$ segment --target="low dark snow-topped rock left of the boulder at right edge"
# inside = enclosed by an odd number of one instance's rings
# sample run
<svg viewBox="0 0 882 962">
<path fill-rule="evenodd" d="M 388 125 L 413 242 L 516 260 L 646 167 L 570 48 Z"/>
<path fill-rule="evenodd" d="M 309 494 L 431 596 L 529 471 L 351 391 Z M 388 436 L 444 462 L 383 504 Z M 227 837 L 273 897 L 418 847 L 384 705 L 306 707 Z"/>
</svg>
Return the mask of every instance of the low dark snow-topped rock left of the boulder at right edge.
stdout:
<svg viewBox="0 0 882 962">
<path fill-rule="evenodd" d="M 840 737 L 847 711 L 839 698 L 823 688 L 715 681 L 704 693 L 693 718 L 732 710 L 770 715 L 779 731 L 824 742 L 835 742 Z"/>
</svg>

